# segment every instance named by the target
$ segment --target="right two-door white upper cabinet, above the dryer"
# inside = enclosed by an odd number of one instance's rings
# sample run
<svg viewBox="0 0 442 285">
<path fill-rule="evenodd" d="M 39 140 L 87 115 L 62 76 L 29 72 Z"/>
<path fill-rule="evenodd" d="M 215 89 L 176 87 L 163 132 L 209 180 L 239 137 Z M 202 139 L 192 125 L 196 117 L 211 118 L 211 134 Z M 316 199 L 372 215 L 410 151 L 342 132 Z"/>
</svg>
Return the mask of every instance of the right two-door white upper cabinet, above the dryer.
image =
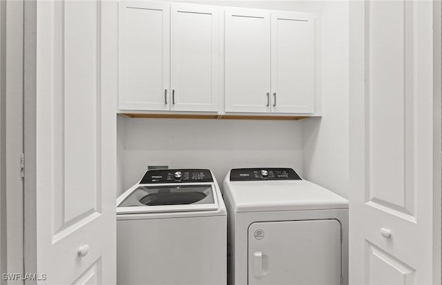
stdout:
<svg viewBox="0 0 442 285">
<path fill-rule="evenodd" d="M 314 112 L 314 16 L 227 8 L 226 112 Z"/>
</svg>

